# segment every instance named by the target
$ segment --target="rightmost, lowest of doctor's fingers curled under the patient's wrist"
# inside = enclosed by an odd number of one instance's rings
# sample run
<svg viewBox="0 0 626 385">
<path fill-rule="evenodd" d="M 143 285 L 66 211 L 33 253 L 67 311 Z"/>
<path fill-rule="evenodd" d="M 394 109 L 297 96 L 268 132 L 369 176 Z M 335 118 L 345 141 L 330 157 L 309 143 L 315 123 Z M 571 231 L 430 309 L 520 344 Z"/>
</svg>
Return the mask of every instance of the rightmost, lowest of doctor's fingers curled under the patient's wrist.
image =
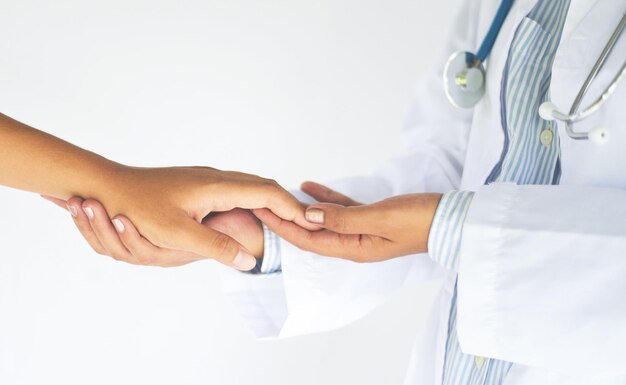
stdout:
<svg viewBox="0 0 626 385">
<path fill-rule="evenodd" d="M 201 259 L 199 255 L 193 253 L 153 245 L 139 234 L 135 225 L 125 216 L 117 216 L 111 222 L 126 249 L 135 257 L 137 264 L 174 267 Z"/>
</svg>

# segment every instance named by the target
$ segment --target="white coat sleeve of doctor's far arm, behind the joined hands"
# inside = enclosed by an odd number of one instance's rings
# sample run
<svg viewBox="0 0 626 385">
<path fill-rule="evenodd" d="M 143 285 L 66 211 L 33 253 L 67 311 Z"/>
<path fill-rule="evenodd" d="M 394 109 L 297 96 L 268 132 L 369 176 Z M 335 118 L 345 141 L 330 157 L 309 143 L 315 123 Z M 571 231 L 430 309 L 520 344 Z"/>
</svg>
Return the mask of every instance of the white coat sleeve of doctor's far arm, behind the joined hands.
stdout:
<svg viewBox="0 0 626 385">
<path fill-rule="evenodd" d="M 478 44 L 479 6 L 480 1 L 472 0 L 459 9 L 449 44 L 442 47 L 446 56 Z M 437 59 L 438 65 L 423 73 L 415 87 L 405 124 L 406 150 L 400 149 L 400 156 L 370 175 L 332 181 L 329 187 L 364 203 L 458 189 L 472 111 L 450 107 L 441 81 L 445 59 Z M 310 202 L 304 194 L 296 195 Z M 233 275 L 226 270 L 222 274 L 226 294 L 257 336 L 293 336 L 341 327 L 385 303 L 404 285 L 442 274 L 427 255 L 355 264 L 304 252 L 281 240 L 280 256 L 282 274 Z"/>
</svg>

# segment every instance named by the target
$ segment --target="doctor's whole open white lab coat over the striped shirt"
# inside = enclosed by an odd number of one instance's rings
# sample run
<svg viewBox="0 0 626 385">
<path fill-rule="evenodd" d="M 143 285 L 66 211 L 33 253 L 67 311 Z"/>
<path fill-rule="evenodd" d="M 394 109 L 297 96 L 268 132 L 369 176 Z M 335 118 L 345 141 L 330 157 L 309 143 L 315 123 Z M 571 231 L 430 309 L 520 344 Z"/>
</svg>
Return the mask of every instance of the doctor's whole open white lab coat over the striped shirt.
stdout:
<svg viewBox="0 0 626 385">
<path fill-rule="evenodd" d="M 535 3 L 513 5 L 487 63 L 486 95 L 472 112 L 450 106 L 441 71 L 451 52 L 478 47 L 499 0 L 465 2 L 441 66 L 417 88 L 407 155 L 373 176 L 332 186 L 364 202 L 420 191 L 477 191 L 458 272 L 462 349 L 514 362 L 506 385 L 626 384 L 626 85 L 577 126 L 605 125 L 612 133 L 607 145 L 571 140 L 559 125 L 560 186 L 483 186 L 502 152 L 500 85 L 507 53 Z M 572 0 L 552 72 L 552 100 L 560 109 L 569 110 L 625 11 L 625 0 Z M 624 52 L 626 37 L 587 102 L 617 73 Z M 406 383 L 441 382 L 455 273 L 427 255 L 355 264 L 284 241 L 281 246 L 282 274 L 224 271 L 225 291 L 257 335 L 337 328 L 408 282 L 442 278 L 428 337 L 416 342 Z"/>
</svg>

